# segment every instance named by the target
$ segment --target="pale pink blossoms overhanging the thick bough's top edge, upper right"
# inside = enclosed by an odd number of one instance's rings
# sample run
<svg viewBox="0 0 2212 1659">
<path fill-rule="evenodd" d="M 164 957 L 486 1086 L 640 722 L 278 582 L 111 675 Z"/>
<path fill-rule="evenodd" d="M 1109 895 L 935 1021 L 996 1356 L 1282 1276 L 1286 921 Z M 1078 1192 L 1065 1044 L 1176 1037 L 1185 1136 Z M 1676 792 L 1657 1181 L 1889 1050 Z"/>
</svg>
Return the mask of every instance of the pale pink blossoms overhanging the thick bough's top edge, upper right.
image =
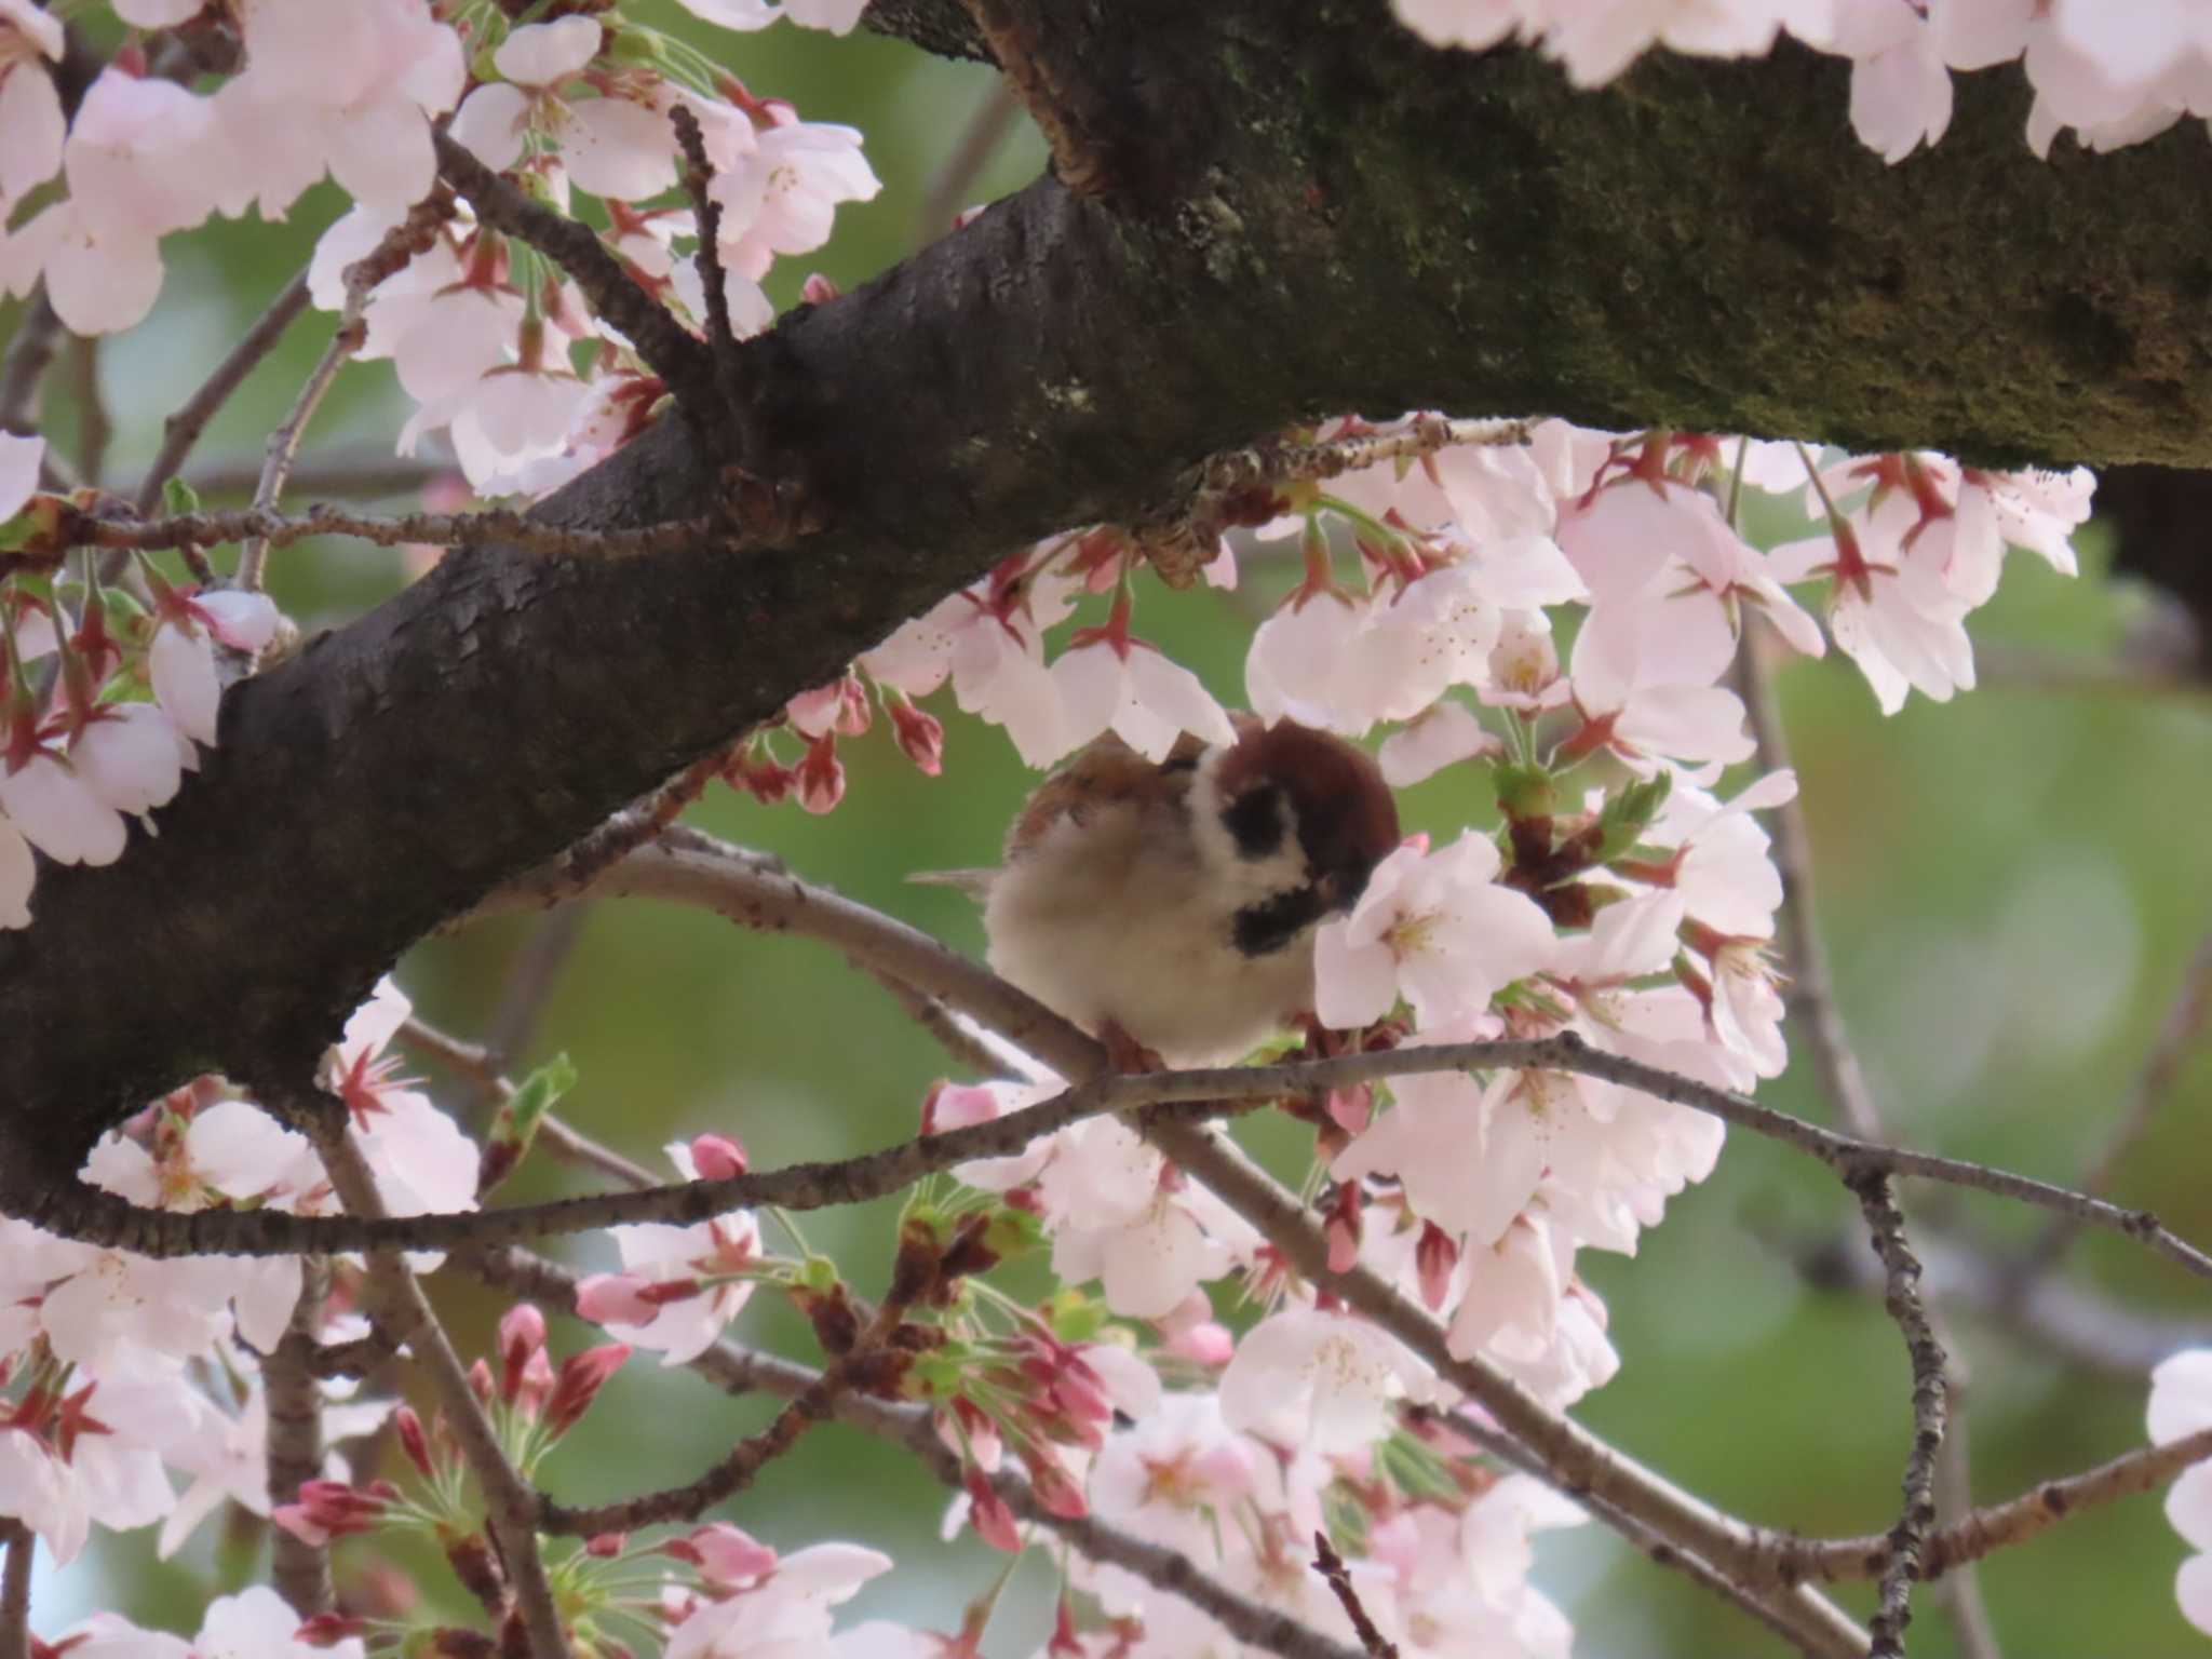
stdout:
<svg viewBox="0 0 2212 1659">
<path fill-rule="evenodd" d="M 1790 31 L 1851 60 L 1851 131 L 1887 161 L 1951 124 L 1951 71 L 2020 60 L 2037 155 L 2073 131 L 2093 150 L 2212 115 L 2212 20 L 2188 4 L 2099 0 L 1394 0 L 1438 46 L 1540 44 L 1577 86 L 1599 86 L 1652 46 L 1759 58 Z"/>
</svg>

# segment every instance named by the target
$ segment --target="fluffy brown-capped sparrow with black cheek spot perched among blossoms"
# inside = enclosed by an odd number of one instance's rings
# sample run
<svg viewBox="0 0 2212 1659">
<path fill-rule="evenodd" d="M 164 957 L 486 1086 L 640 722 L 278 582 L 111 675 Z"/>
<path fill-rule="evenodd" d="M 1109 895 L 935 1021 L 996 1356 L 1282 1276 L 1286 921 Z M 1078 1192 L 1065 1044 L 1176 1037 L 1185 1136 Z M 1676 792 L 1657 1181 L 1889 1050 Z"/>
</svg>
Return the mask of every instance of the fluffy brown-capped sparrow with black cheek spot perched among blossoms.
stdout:
<svg viewBox="0 0 2212 1659">
<path fill-rule="evenodd" d="M 1254 714 L 1148 761 L 1115 734 L 1022 805 L 1004 865 L 964 872 L 989 962 L 1117 1062 L 1237 1060 L 1314 1006 L 1314 936 L 1398 845 L 1398 803 L 1338 737 Z"/>
</svg>

